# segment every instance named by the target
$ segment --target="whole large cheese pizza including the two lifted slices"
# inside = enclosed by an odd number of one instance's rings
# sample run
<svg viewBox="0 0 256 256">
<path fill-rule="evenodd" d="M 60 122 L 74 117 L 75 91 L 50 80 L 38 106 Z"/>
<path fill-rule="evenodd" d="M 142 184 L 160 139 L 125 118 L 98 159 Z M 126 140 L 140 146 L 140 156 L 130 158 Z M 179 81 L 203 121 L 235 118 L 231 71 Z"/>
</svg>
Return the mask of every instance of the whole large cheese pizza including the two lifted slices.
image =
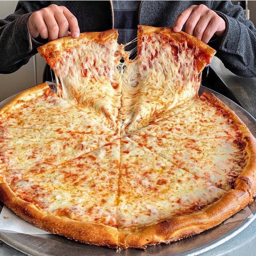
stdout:
<svg viewBox="0 0 256 256">
<path fill-rule="evenodd" d="M 210 229 L 251 203 L 256 139 L 201 72 L 215 51 L 139 26 L 39 47 L 54 70 L 0 110 L 0 199 L 18 216 L 91 245 L 145 249 Z"/>
</svg>

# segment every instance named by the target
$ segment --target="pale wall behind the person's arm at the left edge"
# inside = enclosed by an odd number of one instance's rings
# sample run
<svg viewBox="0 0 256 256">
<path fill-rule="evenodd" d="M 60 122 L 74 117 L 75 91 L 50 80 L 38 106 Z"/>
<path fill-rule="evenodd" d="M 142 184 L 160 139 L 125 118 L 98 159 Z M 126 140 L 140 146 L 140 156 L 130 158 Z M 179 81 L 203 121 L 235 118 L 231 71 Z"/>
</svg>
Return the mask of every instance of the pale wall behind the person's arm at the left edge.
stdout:
<svg viewBox="0 0 256 256">
<path fill-rule="evenodd" d="M 0 19 L 13 13 L 17 2 L 18 1 L 0 1 Z M 34 64 L 36 67 L 36 75 L 34 74 Z M 11 74 L 0 74 L 0 101 L 19 91 L 41 83 L 44 66 L 44 59 L 37 54 L 16 72 Z"/>
</svg>

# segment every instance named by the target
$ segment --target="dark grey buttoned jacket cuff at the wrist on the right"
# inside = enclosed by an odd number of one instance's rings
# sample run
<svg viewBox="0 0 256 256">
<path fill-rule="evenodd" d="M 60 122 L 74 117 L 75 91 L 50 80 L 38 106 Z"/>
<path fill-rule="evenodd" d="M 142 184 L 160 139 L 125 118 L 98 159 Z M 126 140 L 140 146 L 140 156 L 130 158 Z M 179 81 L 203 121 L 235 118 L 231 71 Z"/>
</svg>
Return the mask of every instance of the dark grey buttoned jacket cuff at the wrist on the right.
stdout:
<svg viewBox="0 0 256 256">
<path fill-rule="evenodd" d="M 239 40 L 241 34 L 241 28 L 239 22 L 235 19 L 219 12 L 215 11 L 220 17 L 226 22 L 226 32 L 224 34 L 223 40 L 219 46 L 219 49 L 225 53 L 237 53 L 239 47 Z"/>
</svg>

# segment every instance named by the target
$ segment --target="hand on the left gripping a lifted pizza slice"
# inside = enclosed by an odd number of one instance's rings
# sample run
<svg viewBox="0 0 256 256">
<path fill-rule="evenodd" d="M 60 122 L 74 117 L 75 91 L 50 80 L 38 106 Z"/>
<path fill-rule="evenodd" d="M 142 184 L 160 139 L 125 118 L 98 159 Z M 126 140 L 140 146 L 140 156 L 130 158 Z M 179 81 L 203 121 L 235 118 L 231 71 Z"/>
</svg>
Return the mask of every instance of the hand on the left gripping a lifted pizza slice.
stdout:
<svg viewBox="0 0 256 256">
<path fill-rule="evenodd" d="M 32 13 L 28 27 L 32 38 L 40 36 L 49 41 L 68 34 L 78 38 L 80 33 L 77 18 L 65 6 L 57 5 L 49 5 Z M 71 32 L 68 31 L 69 28 Z"/>
</svg>

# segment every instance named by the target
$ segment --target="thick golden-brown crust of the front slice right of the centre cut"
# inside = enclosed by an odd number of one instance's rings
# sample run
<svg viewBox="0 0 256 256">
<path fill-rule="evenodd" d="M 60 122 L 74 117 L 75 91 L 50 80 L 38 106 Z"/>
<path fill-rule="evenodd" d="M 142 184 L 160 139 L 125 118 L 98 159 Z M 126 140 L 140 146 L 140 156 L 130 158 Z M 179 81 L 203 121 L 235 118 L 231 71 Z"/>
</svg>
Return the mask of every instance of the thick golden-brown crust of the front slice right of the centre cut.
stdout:
<svg viewBox="0 0 256 256">
<path fill-rule="evenodd" d="M 248 192 L 230 190 L 221 199 L 193 214 L 173 217 L 135 231 L 119 230 L 119 246 L 145 249 L 146 245 L 174 242 L 210 229 L 251 202 Z"/>
</svg>

